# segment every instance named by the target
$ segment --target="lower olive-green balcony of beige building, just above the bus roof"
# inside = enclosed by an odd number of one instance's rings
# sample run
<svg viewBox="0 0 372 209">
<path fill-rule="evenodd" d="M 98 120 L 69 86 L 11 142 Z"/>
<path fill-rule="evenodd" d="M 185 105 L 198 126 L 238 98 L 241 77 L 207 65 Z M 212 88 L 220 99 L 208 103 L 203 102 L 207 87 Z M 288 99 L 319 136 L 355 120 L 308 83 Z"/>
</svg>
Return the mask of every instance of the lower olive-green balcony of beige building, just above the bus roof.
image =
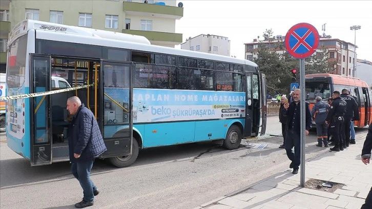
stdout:
<svg viewBox="0 0 372 209">
<path fill-rule="evenodd" d="M 182 43 L 181 33 L 167 33 L 158 31 L 122 30 L 123 33 L 144 36 L 154 45 L 179 45 Z"/>
</svg>

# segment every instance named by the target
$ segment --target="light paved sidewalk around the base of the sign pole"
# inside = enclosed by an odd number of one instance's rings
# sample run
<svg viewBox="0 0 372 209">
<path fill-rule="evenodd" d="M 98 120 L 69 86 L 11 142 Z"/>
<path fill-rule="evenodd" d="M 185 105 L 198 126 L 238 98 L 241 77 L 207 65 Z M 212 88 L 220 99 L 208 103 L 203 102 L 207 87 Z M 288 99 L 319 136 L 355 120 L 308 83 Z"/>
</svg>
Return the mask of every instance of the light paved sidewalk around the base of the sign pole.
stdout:
<svg viewBox="0 0 372 209">
<path fill-rule="evenodd" d="M 366 134 L 356 137 L 357 144 L 350 144 L 344 151 L 325 152 L 306 160 L 305 185 L 309 179 L 344 184 L 334 192 L 326 192 L 325 187 L 301 187 L 301 170 L 293 175 L 288 160 L 288 170 L 194 209 L 360 209 L 372 186 L 372 164 L 363 164 L 360 157 Z"/>
</svg>

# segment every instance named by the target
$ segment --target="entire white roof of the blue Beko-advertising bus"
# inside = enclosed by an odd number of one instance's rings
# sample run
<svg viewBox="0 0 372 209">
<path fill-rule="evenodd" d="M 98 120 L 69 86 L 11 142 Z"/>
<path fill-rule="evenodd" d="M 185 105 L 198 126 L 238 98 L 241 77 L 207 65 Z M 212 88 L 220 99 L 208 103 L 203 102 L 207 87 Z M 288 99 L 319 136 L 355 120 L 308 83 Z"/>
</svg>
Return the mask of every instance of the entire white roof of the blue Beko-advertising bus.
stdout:
<svg viewBox="0 0 372 209">
<path fill-rule="evenodd" d="M 26 27 L 27 26 L 27 27 Z M 60 27 L 66 29 L 66 31 L 55 31 L 49 29 L 40 29 L 40 27 L 45 26 L 43 28 L 48 28 L 50 26 L 53 27 Z M 250 60 L 246 59 L 239 59 L 230 56 L 223 56 L 217 54 L 210 54 L 204 52 L 197 52 L 191 50 L 184 50 L 184 49 L 175 49 L 171 47 L 162 47 L 151 45 L 150 41 L 143 36 L 132 36 L 135 38 L 121 38 L 127 37 L 124 33 L 116 33 L 112 31 L 102 31 L 96 29 L 89 29 L 89 28 L 82 28 L 76 26 L 66 26 L 54 23 L 47 23 L 42 21 L 36 20 L 24 20 L 23 22 L 17 24 L 11 31 L 9 35 L 8 43 L 11 44 L 17 37 L 22 36 L 27 33 L 27 30 L 35 29 L 36 30 L 36 38 L 46 39 L 46 40 L 55 40 L 55 41 L 64 41 L 69 43 L 80 43 L 80 44 L 87 44 L 87 45 L 96 45 L 96 46 L 107 46 L 107 47 L 114 47 L 114 48 L 123 48 L 123 49 L 131 49 L 137 51 L 149 51 L 155 53 L 162 53 L 162 54 L 172 54 L 172 55 L 180 55 L 180 56 L 187 56 L 187 57 L 195 57 L 195 58 L 202 58 L 202 59 L 212 59 L 212 60 L 219 60 L 225 62 L 232 62 L 241 65 L 250 65 L 254 67 L 258 67 L 257 64 Z M 15 34 L 15 31 L 20 31 L 18 34 Z M 20 34 L 22 33 L 22 34 Z M 53 33 L 53 35 L 51 35 Z M 123 35 L 123 36 L 122 36 Z M 84 37 L 82 37 L 84 36 Z M 116 37 L 116 38 L 112 38 Z M 137 37 L 139 37 L 137 39 Z M 144 41 L 144 40 L 147 41 Z"/>
</svg>

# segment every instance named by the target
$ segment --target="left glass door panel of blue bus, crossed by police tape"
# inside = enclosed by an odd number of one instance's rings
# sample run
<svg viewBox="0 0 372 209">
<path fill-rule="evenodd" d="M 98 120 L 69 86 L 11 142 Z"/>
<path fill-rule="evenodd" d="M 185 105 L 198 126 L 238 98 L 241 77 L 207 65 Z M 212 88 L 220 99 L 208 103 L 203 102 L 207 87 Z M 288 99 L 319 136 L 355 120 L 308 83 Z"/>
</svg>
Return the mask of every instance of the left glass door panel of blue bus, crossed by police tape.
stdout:
<svg viewBox="0 0 372 209">
<path fill-rule="evenodd" d="M 30 92 L 51 90 L 51 57 L 30 55 Z M 51 95 L 30 98 L 31 166 L 52 163 Z"/>
</svg>

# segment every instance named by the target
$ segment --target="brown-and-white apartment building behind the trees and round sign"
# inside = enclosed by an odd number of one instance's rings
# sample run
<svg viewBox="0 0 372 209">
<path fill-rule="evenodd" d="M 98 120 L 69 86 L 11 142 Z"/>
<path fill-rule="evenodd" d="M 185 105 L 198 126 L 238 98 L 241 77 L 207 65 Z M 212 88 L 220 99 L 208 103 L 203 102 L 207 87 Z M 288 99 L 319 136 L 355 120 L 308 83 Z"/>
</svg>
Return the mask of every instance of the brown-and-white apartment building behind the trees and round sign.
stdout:
<svg viewBox="0 0 372 209">
<path fill-rule="evenodd" d="M 257 58 L 257 54 L 254 52 L 257 51 L 260 43 L 272 50 L 275 48 L 276 52 L 279 54 L 286 53 L 284 47 L 284 38 L 284 36 L 277 35 L 275 39 L 270 41 L 259 41 L 257 39 L 253 39 L 253 42 L 244 44 L 245 59 L 253 61 L 254 58 Z M 354 44 L 337 38 L 321 37 L 318 49 L 327 49 L 329 52 L 329 61 L 337 61 L 335 66 L 336 71 L 333 72 L 334 74 L 353 76 L 353 65 L 356 61 L 354 57 Z"/>
</svg>

